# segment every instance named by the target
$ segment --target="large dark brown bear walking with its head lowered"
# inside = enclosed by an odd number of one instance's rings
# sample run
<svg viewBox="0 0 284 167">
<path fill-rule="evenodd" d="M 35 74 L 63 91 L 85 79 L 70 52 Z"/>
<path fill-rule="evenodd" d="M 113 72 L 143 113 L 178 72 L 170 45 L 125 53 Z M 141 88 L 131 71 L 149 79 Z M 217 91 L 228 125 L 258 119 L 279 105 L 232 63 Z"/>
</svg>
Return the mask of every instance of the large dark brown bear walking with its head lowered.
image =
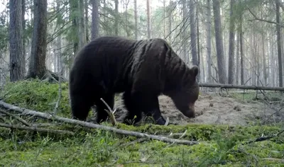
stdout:
<svg viewBox="0 0 284 167">
<path fill-rule="evenodd" d="M 189 68 L 165 40 L 129 40 L 101 37 L 77 53 L 70 70 L 72 118 L 86 120 L 92 105 L 97 107 L 97 123 L 107 120 L 107 107 L 114 108 L 114 94 L 124 93 L 128 115 L 124 123 L 135 124 L 142 113 L 164 125 L 158 96 L 173 99 L 183 115 L 195 117 L 199 96 L 198 68 Z"/>
</svg>

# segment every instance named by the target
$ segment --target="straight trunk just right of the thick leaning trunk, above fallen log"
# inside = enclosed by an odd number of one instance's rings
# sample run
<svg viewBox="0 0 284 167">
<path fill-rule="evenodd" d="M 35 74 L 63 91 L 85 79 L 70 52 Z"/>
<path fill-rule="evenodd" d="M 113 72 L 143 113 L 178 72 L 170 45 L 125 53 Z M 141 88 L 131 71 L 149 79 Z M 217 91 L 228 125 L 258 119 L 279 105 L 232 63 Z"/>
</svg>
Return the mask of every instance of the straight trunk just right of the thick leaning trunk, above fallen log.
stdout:
<svg viewBox="0 0 284 167">
<path fill-rule="evenodd" d="M 234 0 L 231 0 L 230 6 L 228 84 L 234 84 Z"/>
</svg>

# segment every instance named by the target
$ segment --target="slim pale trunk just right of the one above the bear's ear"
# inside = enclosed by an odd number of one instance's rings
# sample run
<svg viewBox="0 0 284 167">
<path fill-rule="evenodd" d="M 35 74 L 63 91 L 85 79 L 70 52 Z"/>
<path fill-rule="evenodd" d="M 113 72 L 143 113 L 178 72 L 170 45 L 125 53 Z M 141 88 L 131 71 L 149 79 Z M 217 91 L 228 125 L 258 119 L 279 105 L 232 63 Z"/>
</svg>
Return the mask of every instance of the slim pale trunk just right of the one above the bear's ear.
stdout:
<svg viewBox="0 0 284 167">
<path fill-rule="evenodd" d="M 212 82 L 212 59 L 211 59 L 211 0 L 207 0 L 207 82 Z"/>
</svg>

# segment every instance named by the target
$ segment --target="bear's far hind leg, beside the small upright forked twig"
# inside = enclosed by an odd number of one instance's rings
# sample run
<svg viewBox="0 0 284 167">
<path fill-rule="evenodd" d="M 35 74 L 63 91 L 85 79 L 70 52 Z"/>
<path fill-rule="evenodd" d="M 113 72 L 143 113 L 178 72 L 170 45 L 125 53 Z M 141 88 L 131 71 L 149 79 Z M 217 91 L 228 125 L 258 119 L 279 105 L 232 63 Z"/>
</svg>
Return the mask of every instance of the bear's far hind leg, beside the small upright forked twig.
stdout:
<svg viewBox="0 0 284 167">
<path fill-rule="evenodd" d="M 114 94 L 109 94 L 107 96 L 104 96 L 104 98 L 102 99 L 107 103 L 107 105 L 109 105 L 111 110 L 114 110 Z M 107 111 L 105 110 L 109 110 L 109 109 L 102 102 L 101 99 L 97 99 L 95 104 L 97 105 L 97 123 L 106 121 L 109 115 L 107 114 Z"/>
</svg>

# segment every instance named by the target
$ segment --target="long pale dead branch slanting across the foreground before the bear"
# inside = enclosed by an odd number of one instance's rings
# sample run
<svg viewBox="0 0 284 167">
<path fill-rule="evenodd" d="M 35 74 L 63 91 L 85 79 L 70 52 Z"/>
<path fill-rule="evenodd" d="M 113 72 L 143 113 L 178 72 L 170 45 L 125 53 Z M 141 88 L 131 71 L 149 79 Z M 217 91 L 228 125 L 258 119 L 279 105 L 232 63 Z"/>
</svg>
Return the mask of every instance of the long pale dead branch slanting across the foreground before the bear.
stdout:
<svg viewBox="0 0 284 167">
<path fill-rule="evenodd" d="M 69 119 L 69 118 L 66 118 L 66 117 L 59 117 L 59 116 L 56 116 L 56 115 L 41 113 L 41 112 L 38 112 L 38 111 L 35 111 L 35 110 L 29 110 L 29 109 L 26 109 L 26 108 L 19 108 L 15 105 L 4 103 L 4 101 L 2 101 L 2 100 L 0 100 L 0 107 L 6 108 L 6 109 L 9 109 L 9 110 L 14 110 L 14 111 L 16 111 L 18 113 L 22 113 L 24 115 L 35 115 L 37 117 L 45 118 L 45 119 L 48 119 L 48 120 L 56 120 L 56 121 L 60 121 L 60 122 L 69 123 L 69 124 L 72 124 L 72 125 L 81 125 L 83 127 L 109 130 L 109 131 L 112 131 L 112 132 L 115 132 L 115 133 L 118 133 L 118 134 L 130 135 L 130 136 L 134 136 L 134 137 L 155 139 L 155 140 L 159 140 L 159 141 L 162 141 L 162 142 L 170 142 L 170 143 L 175 143 L 175 144 L 186 144 L 186 145 L 199 144 L 199 142 L 195 142 L 195 141 L 170 139 L 168 137 L 161 137 L 161 136 L 157 136 L 157 135 L 153 135 L 153 134 L 145 134 L 145 133 L 141 133 L 141 132 L 132 132 L 132 131 L 124 130 L 124 129 L 117 129 L 115 127 L 107 127 L 107 126 L 104 126 L 104 125 L 97 125 L 97 124 L 93 124 L 93 123 L 90 123 L 90 122 L 84 122 L 84 121 L 80 121 L 80 120 L 72 120 L 72 119 Z"/>
</svg>

